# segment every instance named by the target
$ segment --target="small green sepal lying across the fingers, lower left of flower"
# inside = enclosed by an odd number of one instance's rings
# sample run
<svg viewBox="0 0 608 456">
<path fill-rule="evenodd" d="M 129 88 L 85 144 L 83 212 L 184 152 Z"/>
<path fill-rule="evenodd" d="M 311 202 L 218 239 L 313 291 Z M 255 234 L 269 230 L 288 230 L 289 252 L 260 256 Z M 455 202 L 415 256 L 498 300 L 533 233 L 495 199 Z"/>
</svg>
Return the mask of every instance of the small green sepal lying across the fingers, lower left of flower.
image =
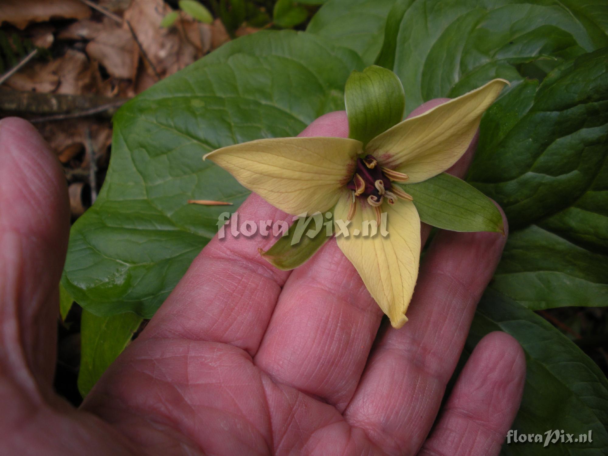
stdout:
<svg viewBox="0 0 608 456">
<path fill-rule="evenodd" d="M 275 268 L 290 271 L 304 264 L 317 250 L 333 237 L 333 213 L 316 212 L 309 217 L 299 216 L 288 233 L 260 254 Z"/>
</svg>

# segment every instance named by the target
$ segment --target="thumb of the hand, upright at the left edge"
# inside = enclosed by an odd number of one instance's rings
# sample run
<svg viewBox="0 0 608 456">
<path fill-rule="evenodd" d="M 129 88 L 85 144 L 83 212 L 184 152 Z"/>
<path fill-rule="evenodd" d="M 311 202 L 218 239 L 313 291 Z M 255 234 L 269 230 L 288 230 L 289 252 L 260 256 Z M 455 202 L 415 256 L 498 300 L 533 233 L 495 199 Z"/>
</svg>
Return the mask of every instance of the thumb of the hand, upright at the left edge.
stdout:
<svg viewBox="0 0 608 456">
<path fill-rule="evenodd" d="M 50 392 L 58 283 L 69 232 L 66 180 L 25 120 L 0 121 L 0 372 Z M 35 381 L 33 381 L 35 380 Z"/>
</svg>

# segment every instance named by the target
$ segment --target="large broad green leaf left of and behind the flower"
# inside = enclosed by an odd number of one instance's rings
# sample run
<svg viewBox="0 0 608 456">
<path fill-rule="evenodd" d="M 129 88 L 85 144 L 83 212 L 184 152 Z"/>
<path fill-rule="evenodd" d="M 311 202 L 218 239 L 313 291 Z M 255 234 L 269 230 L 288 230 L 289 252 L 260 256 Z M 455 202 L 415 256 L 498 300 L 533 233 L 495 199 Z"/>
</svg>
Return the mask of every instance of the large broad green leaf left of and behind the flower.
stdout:
<svg viewBox="0 0 608 456">
<path fill-rule="evenodd" d="M 296 136 L 344 109 L 344 83 L 363 64 L 308 33 L 257 32 L 230 41 L 126 103 L 114 117 L 112 158 L 95 204 L 72 227 L 63 274 L 88 311 L 151 317 L 215 235 L 225 206 L 249 192 L 207 152 Z"/>
</svg>

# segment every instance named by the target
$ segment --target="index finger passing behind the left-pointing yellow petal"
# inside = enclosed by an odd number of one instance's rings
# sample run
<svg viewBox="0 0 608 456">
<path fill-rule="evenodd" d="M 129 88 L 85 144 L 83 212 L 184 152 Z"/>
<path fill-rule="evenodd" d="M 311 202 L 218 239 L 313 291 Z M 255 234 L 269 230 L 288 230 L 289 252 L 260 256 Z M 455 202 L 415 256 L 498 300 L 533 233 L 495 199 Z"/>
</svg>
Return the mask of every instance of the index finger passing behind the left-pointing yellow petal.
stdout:
<svg viewBox="0 0 608 456">
<path fill-rule="evenodd" d="M 333 112 L 319 117 L 300 136 L 341 134 L 340 116 Z M 255 194 L 238 209 L 238 226 L 245 221 L 291 223 L 292 218 Z M 255 354 L 289 272 L 274 268 L 258 252 L 277 240 L 272 235 L 263 237 L 258 230 L 251 237 L 235 236 L 232 226 L 224 233 L 195 258 L 140 337 L 210 340 Z"/>
</svg>

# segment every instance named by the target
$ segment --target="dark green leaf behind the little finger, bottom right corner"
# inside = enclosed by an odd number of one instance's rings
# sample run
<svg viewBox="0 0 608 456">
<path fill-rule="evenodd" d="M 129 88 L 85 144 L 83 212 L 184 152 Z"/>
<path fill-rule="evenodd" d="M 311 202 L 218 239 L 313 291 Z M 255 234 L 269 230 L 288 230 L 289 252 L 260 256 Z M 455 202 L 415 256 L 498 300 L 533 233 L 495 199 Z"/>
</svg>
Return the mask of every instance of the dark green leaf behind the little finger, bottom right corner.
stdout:
<svg viewBox="0 0 608 456">
<path fill-rule="evenodd" d="M 466 342 L 470 353 L 491 331 L 515 337 L 526 356 L 522 404 L 511 429 L 544 434 L 550 429 L 570 434 L 592 431 L 592 443 L 503 444 L 505 456 L 587 455 L 608 451 L 608 381 L 598 366 L 546 320 L 496 292 L 480 302 Z"/>
</svg>

